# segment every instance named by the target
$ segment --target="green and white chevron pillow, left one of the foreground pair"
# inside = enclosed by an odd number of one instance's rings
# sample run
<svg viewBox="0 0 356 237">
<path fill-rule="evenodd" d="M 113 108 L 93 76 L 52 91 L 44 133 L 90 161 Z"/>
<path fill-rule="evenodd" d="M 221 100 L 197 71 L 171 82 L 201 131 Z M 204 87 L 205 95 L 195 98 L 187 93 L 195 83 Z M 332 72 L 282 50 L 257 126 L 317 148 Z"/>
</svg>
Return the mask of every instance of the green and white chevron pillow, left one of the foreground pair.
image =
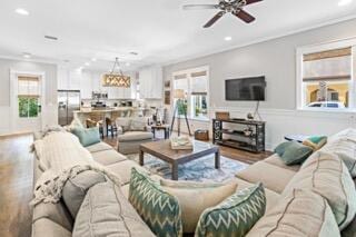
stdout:
<svg viewBox="0 0 356 237">
<path fill-rule="evenodd" d="M 182 236 L 181 213 L 176 197 L 146 174 L 132 168 L 129 201 L 158 237 Z"/>
</svg>

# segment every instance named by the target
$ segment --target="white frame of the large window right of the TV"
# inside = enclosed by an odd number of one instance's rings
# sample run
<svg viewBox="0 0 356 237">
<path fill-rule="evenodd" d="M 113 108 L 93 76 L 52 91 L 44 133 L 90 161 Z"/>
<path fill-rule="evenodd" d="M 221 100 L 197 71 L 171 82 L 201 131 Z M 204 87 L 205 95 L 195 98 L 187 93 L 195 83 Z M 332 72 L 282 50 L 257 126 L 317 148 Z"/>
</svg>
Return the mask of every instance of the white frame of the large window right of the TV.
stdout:
<svg viewBox="0 0 356 237">
<path fill-rule="evenodd" d="M 345 109 L 335 109 L 335 108 L 310 108 L 304 105 L 306 99 L 305 86 L 303 82 L 303 59 L 304 55 L 328 51 L 334 49 L 352 47 L 352 79 L 349 80 L 349 108 Z M 309 111 L 334 111 L 334 112 L 345 112 L 345 111 L 356 111 L 356 38 L 349 38 L 338 41 L 333 41 L 328 43 L 314 45 L 299 47 L 296 50 L 296 108 L 297 110 L 309 110 Z"/>
</svg>

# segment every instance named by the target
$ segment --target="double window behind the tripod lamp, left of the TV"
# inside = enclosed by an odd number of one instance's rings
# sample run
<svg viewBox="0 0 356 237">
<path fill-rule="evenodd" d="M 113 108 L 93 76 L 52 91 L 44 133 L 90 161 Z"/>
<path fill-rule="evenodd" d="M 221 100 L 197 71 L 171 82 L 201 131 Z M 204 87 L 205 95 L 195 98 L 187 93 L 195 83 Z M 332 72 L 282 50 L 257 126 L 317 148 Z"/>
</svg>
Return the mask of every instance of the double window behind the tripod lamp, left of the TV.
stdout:
<svg viewBox="0 0 356 237">
<path fill-rule="evenodd" d="M 185 99 L 178 106 L 178 115 L 187 116 L 191 119 L 207 120 L 208 116 L 208 68 L 195 68 L 174 73 L 174 90 L 182 90 Z M 174 92 L 175 95 L 175 92 Z M 174 98 L 174 106 L 178 99 Z"/>
</svg>

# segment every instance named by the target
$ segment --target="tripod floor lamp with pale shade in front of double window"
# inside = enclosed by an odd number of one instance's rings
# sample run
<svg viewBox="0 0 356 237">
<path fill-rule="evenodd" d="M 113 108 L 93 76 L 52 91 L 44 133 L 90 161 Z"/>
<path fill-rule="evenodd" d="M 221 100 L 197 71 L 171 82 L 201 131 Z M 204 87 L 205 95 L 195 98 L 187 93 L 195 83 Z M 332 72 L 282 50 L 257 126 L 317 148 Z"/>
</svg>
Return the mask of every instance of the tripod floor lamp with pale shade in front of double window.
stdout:
<svg viewBox="0 0 356 237">
<path fill-rule="evenodd" d="M 185 99 L 186 99 L 186 95 L 185 95 L 185 91 L 181 90 L 181 89 L 177 89 L 174 91 L 174 98 L 175 99 L 178 99 L 177 102 L 176 102 L 176 106 L 175 106 L 175 110 L 174 110 L 174 117 L 172 117 L 172 120 L 171 120 L 171 126 L 170 126 L 170 131 L 174 130 L 174 127 L 175 127 L 175 120 L 176 120 L 176 117 L 178 119 L 178 136 L 180 136 L 180 116 L 181 116 L 181 111 L 182 111 L 182 116 L 185 117 L 185 120 L 186 120 L 186 124 L 187 124 L 187 128 L 188 128 L 188 131 L 189 131 L 189 136 L 191 136 L 191 132 L 190 132 L 190 127 L 189 127 L 189 122 L 188 122 L 188 118 L 187 118 L 187 108 L 185 108 Z"/>
</svg>

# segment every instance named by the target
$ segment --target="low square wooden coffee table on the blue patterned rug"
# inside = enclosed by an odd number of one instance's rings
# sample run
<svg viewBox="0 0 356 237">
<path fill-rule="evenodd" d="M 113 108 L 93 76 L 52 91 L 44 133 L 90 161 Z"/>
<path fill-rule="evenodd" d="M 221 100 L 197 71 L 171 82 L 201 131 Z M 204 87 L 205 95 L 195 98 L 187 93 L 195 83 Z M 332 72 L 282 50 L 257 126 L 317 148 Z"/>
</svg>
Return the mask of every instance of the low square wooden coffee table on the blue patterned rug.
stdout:
<svg viewBox="0 0 356 237">
<path fill-rule="evenodd" d="M 144 155 L 150 154 L 158 159 L 171 164 L 171 179 L 178 180 L 178 165 L 199 159 L 215 154 L 215 168 L 220 168 L 220 150 L 218 146 L 194 140 L 192 150 L 174 150 L 170 148 L 170 140 L 159 140 L 140 145 L 140 165 L 144 166 Z"/>
</svg>

